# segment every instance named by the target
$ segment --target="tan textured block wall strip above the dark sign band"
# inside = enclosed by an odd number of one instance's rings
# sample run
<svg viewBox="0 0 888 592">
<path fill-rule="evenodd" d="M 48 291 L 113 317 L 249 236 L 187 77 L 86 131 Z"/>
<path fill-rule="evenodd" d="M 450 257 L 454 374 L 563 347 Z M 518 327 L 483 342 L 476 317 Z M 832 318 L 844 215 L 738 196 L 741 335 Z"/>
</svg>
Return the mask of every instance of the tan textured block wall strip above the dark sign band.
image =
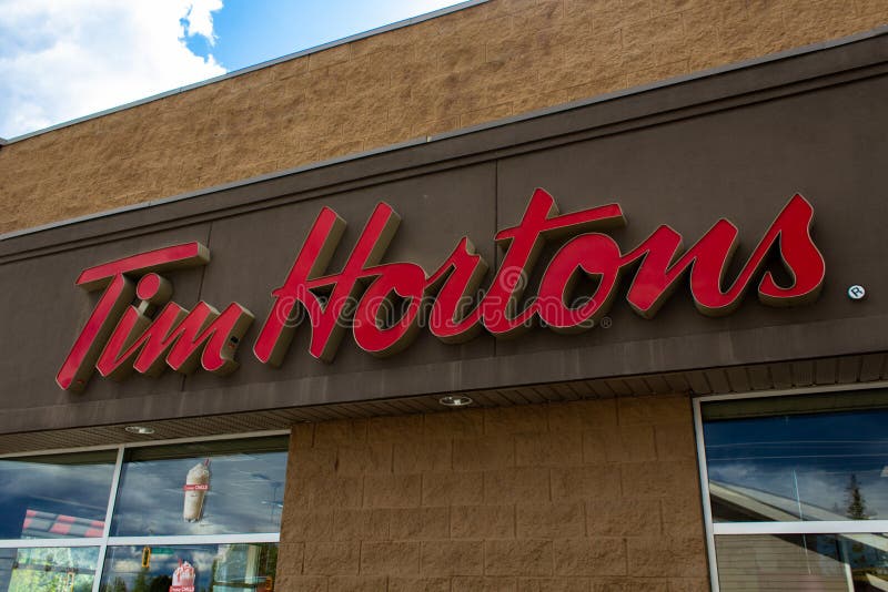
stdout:
<svg viewBox="0 0 888 592">
<path fill-rule="evenodd" d="M 6 146 L 0 233 L 886 22 L 886 0 L 491 0 Z"/>
</svg>

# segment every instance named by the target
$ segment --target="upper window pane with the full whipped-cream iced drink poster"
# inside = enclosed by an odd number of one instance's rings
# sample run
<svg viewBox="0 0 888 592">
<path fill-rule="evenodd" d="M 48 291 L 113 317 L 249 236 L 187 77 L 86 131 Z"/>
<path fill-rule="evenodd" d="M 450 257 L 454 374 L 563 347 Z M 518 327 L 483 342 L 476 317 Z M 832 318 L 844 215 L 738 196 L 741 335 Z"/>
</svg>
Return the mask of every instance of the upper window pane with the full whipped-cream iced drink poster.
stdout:
<svg viewBox="0 0 888 592">
<path fill-rule="evenodd" d="M 134 448 L 111 524 L 115 537 L 278 532 L 286 437 Z"/>
</svg>

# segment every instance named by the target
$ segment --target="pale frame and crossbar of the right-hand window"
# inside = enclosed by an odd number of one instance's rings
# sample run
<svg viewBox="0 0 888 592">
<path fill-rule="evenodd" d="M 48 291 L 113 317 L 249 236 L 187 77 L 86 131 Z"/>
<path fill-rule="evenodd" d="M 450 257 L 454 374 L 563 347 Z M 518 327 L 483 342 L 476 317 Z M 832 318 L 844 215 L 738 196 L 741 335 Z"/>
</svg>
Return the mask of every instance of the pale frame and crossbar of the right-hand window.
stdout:
<svg viewBox="0 0 888 592">
<path fill-rule="evenodd" d="M 703 520 L 706 534 L 706 555 L 709 563 L 709 585 L 713 592 L 720 592 L 718 580 L 718 562 L 715 551 L 715 538 L 734 534 L 861 534 L 888 532 L 888 520 L 828 520 L 795 522 L 715 522 L 709 499 L 709 473 L 706 463 L 706 440 L 703 431 L 703 414 L 700 407 L 710 401 L 736 399 L 764 399 L 770 397 L 794 397 L 819 395 L 825 392 L 842 392 L 856 390 L 876 390 L 888 388 L 888 381 L 879 380 L 866 384 L 828 385 L 767 391 L 748 391 L 729 395 L 706 395 L 694 397 L 694 436 L 697 445 L 697 465 L 699 468 L 700 493 L 703 498 Z"/>
</svg>

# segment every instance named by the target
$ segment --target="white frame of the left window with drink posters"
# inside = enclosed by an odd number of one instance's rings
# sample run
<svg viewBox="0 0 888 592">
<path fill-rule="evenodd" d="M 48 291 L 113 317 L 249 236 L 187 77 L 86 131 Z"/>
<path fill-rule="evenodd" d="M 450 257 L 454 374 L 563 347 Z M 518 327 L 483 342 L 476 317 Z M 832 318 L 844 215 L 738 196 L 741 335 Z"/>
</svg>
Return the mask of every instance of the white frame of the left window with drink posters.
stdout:
<svg viewBox="0 0 888 592">
<path fill-rule="evenodd" d="M 104 517 L 104 528 L 101 537 L 72 537 L 70 539 L 0 539 L 0 549 L 48 549 L 61 547 L 97 547 L 99 560 L 95 564 L 95 576 L 92 582 L 92 592 L 99 592 L 102 574 L 104 572 L 105 555 L 109 547 L 175 547 L 182 544 L 233 544 L 233 543 L 280 543 L 281 532 L 252 532 L 243 534 L 169 534 L 144 537 L 111 537 L 111 520 L 117 506 L 120 477 L 123 471 L 123 461 L 127 450 L 132 448 L 159 447 L 169 445 L 183 445 L 192 442 L 209 442 L 221 440 L 246 440 L 251 438 L 268 438 L 274 436 L 291 436 L 291 430 L 251 431 L 245 433 L 223 433 L 216 436 L 195 436 L 191 438 L 174 438 L 164 440 L 143 440 L 121 445 L 99 445 L 81 448 L 59 448 L 53 450 L 36 450 L 29 452 L 13 452 L 0 455 L 0 460 L 19 459 L 28 457 L 46 457 L 52 455 L 67 455 L 77 452 L 91 452 L 97 450 L 117 450 L 114 472 L 111 478 L 111 491 L 108 497 L 108 508 Z M 284 486 L 285 487 L 285 486 Z"/>
</svg>

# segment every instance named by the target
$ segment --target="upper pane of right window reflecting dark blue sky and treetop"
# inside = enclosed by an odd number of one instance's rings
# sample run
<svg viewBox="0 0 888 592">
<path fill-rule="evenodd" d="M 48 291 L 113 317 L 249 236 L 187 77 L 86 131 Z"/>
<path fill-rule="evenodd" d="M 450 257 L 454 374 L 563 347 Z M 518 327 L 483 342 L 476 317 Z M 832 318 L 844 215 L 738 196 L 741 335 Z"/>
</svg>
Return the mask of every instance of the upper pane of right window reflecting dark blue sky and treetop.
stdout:
<svg viewBox="0 0 888 592">
<path fill-rule="evenodd" d="M 888 518 L 885 426 L 888 409 L 705 421 L 714 520 Z"/>
</svg>

